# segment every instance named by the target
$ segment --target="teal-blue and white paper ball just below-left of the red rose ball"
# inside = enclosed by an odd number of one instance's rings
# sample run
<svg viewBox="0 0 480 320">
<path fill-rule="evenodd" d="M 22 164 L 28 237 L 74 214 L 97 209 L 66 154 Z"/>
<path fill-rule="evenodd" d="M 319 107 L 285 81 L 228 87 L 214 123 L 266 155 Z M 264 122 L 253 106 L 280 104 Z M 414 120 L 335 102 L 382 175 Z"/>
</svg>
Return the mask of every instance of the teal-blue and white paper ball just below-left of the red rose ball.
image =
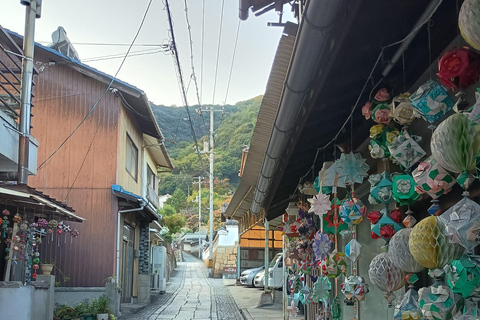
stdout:
<svg viewBox="0 0 480 320">
<path fill-rule="evenodd" d="M 442 118 L 453 108 L 454 102 L 445 88 L 436 81 L 428 80 L 410 96 L 415 109 L 430 123 Z"/>
</svg>

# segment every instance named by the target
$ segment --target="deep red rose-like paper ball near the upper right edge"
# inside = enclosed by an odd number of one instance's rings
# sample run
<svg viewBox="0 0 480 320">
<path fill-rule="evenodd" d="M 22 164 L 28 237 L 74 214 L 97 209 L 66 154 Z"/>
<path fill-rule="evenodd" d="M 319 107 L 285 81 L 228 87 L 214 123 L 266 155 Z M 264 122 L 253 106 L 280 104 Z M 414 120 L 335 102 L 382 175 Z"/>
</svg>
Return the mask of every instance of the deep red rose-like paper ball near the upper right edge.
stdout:
<svg viewBox="0 0 480 320">
<path fill-rule="evenodd" d="M 438 61 L 437 76 L 445 87 L 465 90 L 478 81 L 479 55 L 468 47 L 447 51 Z"/>
</svg>

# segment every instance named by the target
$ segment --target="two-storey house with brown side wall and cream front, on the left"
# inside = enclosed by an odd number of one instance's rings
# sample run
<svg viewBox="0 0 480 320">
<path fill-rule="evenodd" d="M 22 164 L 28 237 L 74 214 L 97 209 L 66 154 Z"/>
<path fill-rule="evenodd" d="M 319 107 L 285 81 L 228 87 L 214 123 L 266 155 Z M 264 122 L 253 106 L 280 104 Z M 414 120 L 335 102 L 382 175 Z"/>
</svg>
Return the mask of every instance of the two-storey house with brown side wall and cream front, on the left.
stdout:
<svg viewBox="0 0 480 320">
<path fill-rule="evenodd" d="M 69 250 L 50 244 L 50 258 L 66 286 L 102 287 L 112 277 L 124 302 L 147 302 L 157 170 L 173 164 L 146 94 L 81 63 L 63 28 L 56 32 L 56 43 L 35 46 L 39 166 L 30 184 L 87 221 Z"/>
</svg>

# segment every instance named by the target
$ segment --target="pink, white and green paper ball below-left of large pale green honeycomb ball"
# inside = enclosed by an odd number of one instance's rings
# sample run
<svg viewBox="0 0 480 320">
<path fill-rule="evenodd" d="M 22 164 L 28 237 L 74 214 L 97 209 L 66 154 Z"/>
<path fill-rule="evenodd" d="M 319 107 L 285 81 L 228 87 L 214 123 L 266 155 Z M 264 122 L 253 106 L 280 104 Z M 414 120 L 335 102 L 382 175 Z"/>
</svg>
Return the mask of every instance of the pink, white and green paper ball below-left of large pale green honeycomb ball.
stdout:
<svg viewBox="0 0 480 320">
<path fill-rule="evenodd" d="M 433 199 L 449 192 L 456 182 L 455 178 L 443 169 L 434 157 L 420 162 L 412 175 L 417 184 L 416 191 L 419 194 L 427 193 Z"/>
</svg>

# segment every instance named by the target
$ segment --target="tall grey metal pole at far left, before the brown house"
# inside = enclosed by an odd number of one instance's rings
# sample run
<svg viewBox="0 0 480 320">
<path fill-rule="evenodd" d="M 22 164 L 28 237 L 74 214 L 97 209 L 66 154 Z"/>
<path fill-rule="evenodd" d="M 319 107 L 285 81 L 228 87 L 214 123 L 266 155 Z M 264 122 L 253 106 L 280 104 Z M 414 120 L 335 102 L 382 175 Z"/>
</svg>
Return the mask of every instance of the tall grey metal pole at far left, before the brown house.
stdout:
<svg viewBox="0 0 480 320">
<path fill-rule="evenodd" d="M 21 0 L 25 9 L 23 36 L 22 80 L 20 89 L 20 139 L 18 144 L 18 184 L 28 183 L 28 148 L 30 144 L 30 114 L 32 108 L 33 52 L 35 19 L 40 18 L 41 0 Z"/>
</svg>

